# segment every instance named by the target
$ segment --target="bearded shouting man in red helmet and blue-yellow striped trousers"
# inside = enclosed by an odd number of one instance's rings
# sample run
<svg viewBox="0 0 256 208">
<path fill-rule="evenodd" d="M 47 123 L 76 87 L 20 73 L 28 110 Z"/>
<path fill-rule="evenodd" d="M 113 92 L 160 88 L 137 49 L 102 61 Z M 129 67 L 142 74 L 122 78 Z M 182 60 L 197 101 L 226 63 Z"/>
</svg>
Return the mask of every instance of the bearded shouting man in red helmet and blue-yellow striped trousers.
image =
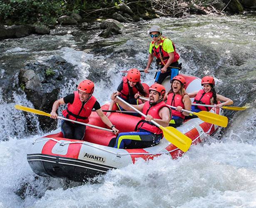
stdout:
<svg viewBox="0 0 256 208">
<path fill-rule="evenodd" d="M 132 105 L 143 114 L 147 115 L 147 117 L 144 118 L 142 116 L 142 120 L 139 121 L 136 126 L 136 131 L 120 133 L 117 137 L 115 148 L 146 148 L 159 143 L 160 139 L 163 138 L 163 131 L 150 121 L 154 119 L 154 121 L 164 127 L 169 125 L 171 112 L 165 102 L 162 101 L 165 92 L 164 86 L 161 84 L 153 84 L 149 88 L 149 101 L 139 105 Z M 113 93 L 111 96 L 114 102 L 117 102 L 127 111 L 133 110 L 117 99 L 116 96 L 116 93 Z"/>
</svg>

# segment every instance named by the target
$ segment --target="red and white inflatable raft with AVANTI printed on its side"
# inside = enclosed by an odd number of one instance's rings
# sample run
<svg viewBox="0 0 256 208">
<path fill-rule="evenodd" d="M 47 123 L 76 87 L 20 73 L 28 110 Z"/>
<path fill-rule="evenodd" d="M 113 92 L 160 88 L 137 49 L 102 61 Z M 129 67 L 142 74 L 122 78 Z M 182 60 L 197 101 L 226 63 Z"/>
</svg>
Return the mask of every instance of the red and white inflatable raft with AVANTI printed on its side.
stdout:
<svg viewBox="0 0 256 208">
<path fill-rule="evenodd" d="M 201 80 L 197 77 L 182 75 L 186 79 L 186 92 L 201 89 Z M 169 79 L 163 83 L 170 89 Z M 108 109 L 109 104 L 102 106 Z M 221 114 L 220 109 L 212 108 L 211 112 Z M 137 116 L 112 113 L 109 116 L 112 124 L 120 132 L 134 131 Z M 89 124 L 107 128 L 96 112 L 89 117 Z M 209 134 L 216 132 L 219 126 L 201 121 L 199 118 L 184 122 L 177 129 L 192 140 L 192 144 L 201 143 Z M 40 176 L 68 178 L 72 181 L 86 181 L 87 178 L 107 173 L 114 168 L 122 168 L 137 159 L 153 159 L 168 154 L 175 159 L 184 154 L 183 151 L 162 139 L 156 146 L 144 149 L 115 149 L 116 135 L 111 132 L 87 126 L 84 141 L 65 139 L 60 129 L 52 134 L 36 139 L 29 149 L 27 161 L 32 170 Z"/>
</svg>

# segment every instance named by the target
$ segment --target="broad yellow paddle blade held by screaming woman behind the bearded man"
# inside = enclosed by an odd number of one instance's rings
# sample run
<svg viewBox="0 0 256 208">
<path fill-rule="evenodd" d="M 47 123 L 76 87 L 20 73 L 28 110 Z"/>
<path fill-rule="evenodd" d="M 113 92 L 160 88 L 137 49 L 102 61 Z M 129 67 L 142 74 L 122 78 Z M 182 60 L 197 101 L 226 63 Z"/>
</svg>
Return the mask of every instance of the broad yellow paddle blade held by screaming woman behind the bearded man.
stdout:
<svg viewBox="0 0 256 208">
<path fill-rule="evenodd" d="M 221 116 L 208 111 L 200 111 L 198 113 L 193 112 L 193 114 L 198 116 L 202 121 L 210 124 L 215 124 L 222 127 L 226 127 L 228 125 L 228 118 L 226 116 Z"/>
</svg>

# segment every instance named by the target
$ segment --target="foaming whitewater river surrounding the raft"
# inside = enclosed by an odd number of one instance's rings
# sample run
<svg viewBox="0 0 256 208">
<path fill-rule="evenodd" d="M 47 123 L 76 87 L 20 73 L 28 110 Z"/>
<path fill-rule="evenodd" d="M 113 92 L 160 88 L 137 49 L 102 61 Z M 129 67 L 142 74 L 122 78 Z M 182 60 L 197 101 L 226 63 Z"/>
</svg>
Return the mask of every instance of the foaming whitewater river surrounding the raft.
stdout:
<svg viewBox="0 0 256 208">
<path fill-rule="evenodd" d="M 128 23 L 124 35 L 98 37 L 90 30 L 64 36 L 30 35 L 0 42 L 0 208 L 9 207 L 256 207 L 256 17 L 190 16 Z M 94 96 L 109 101 L 122 74 L 144 69 L 153 24 L 163 28 L 181 55 L 182 73 L 213 75 L 219 94 L 246 111 L 225 111 L 229 125 L 178 160 L 160 156 L 109 171 L 81 184 L 36 176 L 26 160 L 32 141 L 44 134 L 38 118 L 14 110 L 33 107 L 17 88 L 18 69 L 58 54 L 92 79 Z M 71 29 L 70 29 L 71 30 Z M 74 29 L 72 29 L 74 30 Z M 142 81 L 152 82 L 153 73 Z M 67 83 L 60 97 L 72 92 Z"/>
</svg>

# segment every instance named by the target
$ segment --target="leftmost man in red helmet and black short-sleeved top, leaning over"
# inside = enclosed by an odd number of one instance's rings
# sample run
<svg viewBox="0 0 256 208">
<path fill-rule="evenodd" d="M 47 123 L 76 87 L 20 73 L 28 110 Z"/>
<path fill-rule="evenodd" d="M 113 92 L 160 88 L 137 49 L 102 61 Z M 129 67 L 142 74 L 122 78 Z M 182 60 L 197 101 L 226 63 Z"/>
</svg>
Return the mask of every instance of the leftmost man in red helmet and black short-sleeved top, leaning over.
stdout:
<svg viewBox="0 0 256 208">
<path fill-rule="evenodd" d="M 84 80 L 80 82 L 77 91 L 58 99 L 52 105 L 51 118 L 57 119 L 57 109 L 61 104 L 67 104 L 67 109 L 62 111 L 63 116 L 67 119 L 88 123 L 88 117 L 95 109 L 104 124 L 109 126 L 115 134 L 119 131 L 111 123 L 111 121 L 103 114 L 97 99 L 92 95 L 94 91 L 94 83 L 91 80 Z M 85 136 L 85 125 L 72 123 L 70 121 L 62 120 L 61 131 L 65 138 L 82 140 Z"/>
</svg>

